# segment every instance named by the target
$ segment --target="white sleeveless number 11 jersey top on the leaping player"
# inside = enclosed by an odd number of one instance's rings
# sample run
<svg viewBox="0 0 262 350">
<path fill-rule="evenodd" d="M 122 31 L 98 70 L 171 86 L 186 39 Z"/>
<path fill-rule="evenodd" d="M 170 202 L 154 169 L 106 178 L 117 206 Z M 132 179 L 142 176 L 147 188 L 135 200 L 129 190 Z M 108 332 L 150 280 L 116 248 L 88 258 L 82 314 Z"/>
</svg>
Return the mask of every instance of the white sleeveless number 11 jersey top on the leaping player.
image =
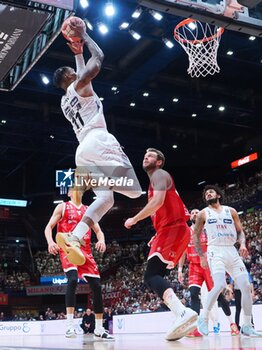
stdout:
<svg viewBox="0 0 262 350">
<path fill-rule="evenodd" d="M 75 91 L 74 82 L 67 88 L 61 99 L 61 108 L 66 119 L 70 121 L 79 142 L 88 131 L 103 128 L 107 131 L 103 105 L 98 96 L 81 97 Z"/>
</svg>

